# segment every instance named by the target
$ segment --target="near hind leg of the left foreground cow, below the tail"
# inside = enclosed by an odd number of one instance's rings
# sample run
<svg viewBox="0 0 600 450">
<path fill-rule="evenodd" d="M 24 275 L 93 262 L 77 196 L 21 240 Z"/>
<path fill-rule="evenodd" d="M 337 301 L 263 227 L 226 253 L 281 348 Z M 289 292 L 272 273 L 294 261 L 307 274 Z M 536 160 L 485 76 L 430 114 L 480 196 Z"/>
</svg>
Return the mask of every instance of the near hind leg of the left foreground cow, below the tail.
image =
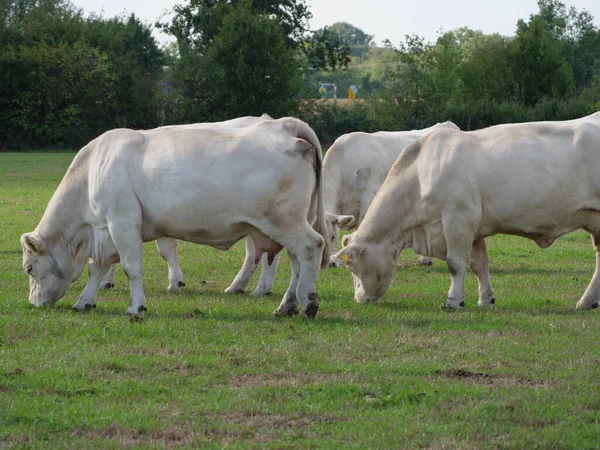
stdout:
<svg viewBox="0 0 600 450">
<path fill-rule="evenodd" d="M 313 318 L 319 310 L 315 282 L 321 265 L 325 241 L 319 233 L 306 223 L 300 233 L 284 237 L 280 240 L 280 243 L 286 248 L 288 254 L 292 253 L 298 258 L 300 278 L 296 287 L 296 298 L 304 313 Z"/>
</svg>

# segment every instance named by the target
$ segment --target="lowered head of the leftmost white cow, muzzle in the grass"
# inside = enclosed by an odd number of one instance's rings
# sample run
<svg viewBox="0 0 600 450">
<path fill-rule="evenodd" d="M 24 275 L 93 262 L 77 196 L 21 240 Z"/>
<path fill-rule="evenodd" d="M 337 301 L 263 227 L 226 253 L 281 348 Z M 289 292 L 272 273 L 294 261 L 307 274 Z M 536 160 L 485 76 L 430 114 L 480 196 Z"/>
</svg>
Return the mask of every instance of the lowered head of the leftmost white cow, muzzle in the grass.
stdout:
<svg viewBox="0 0 600 450">
<path fill-rule="evenodd" d="M 67 292 L 75 272 L 73 256 L 58 244 L 50 244 L 41 236 L 21 236 L 23 269 L 29 275 L 29 303 L 49 306 Z"/>
</svg>

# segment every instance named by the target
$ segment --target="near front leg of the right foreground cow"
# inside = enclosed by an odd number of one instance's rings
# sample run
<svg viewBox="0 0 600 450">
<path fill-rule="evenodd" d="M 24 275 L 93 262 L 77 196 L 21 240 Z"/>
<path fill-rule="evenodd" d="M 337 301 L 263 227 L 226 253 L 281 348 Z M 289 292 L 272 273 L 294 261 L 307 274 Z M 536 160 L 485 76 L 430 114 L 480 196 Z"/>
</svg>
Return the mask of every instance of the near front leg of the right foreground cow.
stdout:
<svg viewBox="0 0 600 450">
<path fill-rule="evenodd" d="M 452 284 L 444 309 L 458 309 L 465 305 L 465 272 L 469 265 L 475 233 L 471 231 L 474 227 L 468 222 L 468 213 L 463 214 L 460 218 L 453 214 L 442 215 L 447 249 L 446 262 L 452 275 Z"/>
</svg>

